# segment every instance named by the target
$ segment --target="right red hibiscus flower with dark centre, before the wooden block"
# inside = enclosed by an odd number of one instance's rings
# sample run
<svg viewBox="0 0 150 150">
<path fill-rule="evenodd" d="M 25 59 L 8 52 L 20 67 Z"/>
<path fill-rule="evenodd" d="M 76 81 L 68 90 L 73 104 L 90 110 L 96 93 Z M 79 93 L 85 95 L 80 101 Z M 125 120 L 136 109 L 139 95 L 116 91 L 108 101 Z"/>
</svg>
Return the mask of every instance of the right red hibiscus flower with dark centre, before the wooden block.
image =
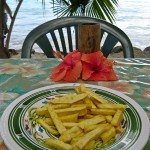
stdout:
<svg viewBox="0 0 150 150">
<path fill-rule="evenodd" d="M 113 63 L 106 59 L 101 51 L 91 54 L 82 54 L 82 79 L 83 80 L 118 80 Z"/>
</svg>

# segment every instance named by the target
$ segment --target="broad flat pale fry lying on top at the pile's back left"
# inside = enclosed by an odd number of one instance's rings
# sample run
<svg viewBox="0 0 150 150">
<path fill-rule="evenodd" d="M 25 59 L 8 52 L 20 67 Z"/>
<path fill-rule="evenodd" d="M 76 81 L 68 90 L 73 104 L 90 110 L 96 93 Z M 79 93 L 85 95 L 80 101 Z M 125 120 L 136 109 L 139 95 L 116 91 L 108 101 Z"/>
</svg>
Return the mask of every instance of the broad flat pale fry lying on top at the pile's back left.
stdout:
<svg viewBox="0 0 150 150">
<path fill-rule="evenodd" d="M 82 99 L 84 99 L 85 97 L 87 96 L 86 93 L 83 93 L 83 94 L 67 94 L 63 97 L 60 97 L 60 98 L 57 98 L 57 99 L 54 99 L 54 100 L 51 100 L 50 103 L 53 103 L 53 104 L 72 104 L 72 103 L 75 103 L 75 102 L 78 102 Z"/>
</svg>

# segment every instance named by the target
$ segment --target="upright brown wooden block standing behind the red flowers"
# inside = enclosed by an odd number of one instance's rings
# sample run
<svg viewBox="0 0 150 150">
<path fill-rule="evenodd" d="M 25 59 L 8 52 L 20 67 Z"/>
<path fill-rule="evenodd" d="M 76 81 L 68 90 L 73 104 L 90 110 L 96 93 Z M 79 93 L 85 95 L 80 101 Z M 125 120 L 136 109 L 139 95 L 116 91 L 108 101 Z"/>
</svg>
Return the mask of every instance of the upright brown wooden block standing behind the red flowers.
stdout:
<svg viewBox="0 0 150 150">
<path fill-rule="evenodd" d="M 100 50 L 100 24 L 79 25 L 78 50 L 82 53 L 92 53 Z"/>
</svg>

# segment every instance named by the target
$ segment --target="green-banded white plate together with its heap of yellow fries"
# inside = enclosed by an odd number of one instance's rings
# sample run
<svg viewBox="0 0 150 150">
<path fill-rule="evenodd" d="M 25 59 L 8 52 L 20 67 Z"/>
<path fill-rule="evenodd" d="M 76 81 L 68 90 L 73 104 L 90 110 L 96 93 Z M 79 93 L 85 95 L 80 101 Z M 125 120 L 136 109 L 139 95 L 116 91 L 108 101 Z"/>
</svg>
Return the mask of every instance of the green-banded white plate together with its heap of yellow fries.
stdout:
<svg viewBox="0 0 150 150">
<path fill-rule="evenodd" d="M 10 150 L 141 150 L 150 126 L 121 92 L 91 84 L 42 87 L 17 98 L 1 118 Z"/>
</svg>

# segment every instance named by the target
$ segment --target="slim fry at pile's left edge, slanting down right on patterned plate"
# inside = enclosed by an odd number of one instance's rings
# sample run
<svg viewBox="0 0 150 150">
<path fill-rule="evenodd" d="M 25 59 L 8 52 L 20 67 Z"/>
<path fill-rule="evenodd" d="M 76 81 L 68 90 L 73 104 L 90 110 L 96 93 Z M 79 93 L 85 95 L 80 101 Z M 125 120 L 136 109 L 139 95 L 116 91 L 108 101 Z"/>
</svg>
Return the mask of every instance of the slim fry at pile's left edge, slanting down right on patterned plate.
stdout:
<svg viewBox="0 0 150 150">
<path fill-rule="evenodd" d="M 57 130 L 55 130 L 54 128 L 50 127 L 48 124 L 46 124 L 44 122 L 44 120 L 42 119 L 38 119 L 37 122 L 44 128 L 46 129 L 48 132 L 54 134 L 54 135 L 59 135 L 59 132 Z"/>
</svg>

